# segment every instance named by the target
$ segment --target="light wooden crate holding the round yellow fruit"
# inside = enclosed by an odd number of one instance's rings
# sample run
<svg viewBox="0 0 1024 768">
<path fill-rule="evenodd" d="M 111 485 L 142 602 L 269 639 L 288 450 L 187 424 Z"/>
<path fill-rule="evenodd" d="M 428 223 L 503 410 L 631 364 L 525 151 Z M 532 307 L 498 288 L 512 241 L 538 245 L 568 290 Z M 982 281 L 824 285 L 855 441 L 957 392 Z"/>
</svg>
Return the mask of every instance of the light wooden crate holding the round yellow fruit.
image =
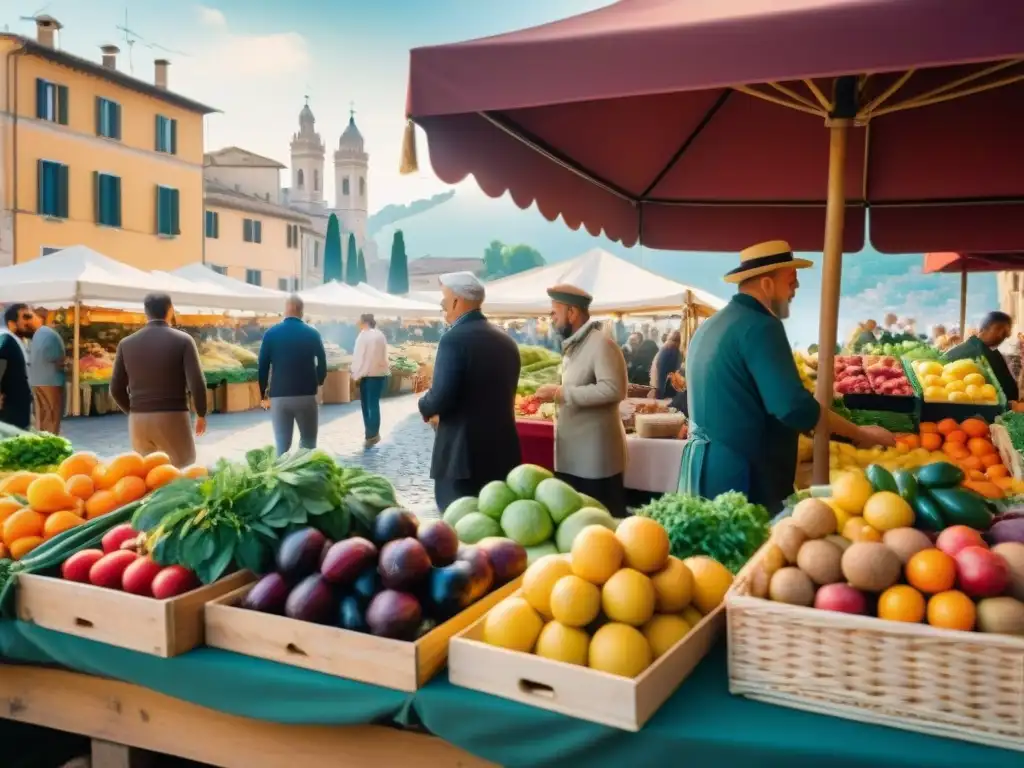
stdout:
<svg viewBox="0 0 1024 768">
<path fill-rule="evenodd" d="M 452 638 L 453 685 L 590 720 L 640 730 L 697 666 L 725 627 L 719 606 L 636 678 L 498 648 L 482 641 L 483 617 Z"/>
</svg>

